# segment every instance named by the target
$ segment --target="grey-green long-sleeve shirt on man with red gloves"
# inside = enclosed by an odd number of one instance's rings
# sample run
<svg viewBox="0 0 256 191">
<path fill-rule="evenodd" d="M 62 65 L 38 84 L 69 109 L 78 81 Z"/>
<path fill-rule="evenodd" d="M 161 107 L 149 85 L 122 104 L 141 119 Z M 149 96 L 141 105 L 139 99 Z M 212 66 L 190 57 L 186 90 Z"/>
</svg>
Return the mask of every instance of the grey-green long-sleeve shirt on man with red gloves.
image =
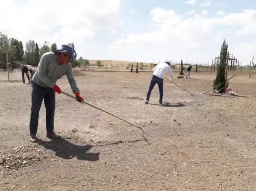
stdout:
<svg viewBox="0 0 256 191">
<path fill-rule="evenodd" d="M 51 87 L 56 84 L 56 81 L 67 75 L 68 82 L 73 93 L 79 92 L 77 81 L 73 75 L 71 63 L 58 64 L 58 55 L 53 52 L 44 53 L 35 71 L 32 81 L 41 87 Z"/>
</svg>

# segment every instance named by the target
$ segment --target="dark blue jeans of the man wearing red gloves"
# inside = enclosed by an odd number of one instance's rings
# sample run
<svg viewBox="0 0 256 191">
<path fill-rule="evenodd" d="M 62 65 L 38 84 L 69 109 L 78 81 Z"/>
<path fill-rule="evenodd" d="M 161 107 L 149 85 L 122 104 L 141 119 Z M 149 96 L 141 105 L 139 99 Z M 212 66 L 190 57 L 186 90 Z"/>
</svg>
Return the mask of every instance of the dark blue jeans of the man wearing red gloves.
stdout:
<svg viewBox="0 0 256 191">
<path fill-rule="evenodd" d="M 46 109 L 46 131 L 53 132 L 54 112 L 55 112 L 55 91 L 53 88 L 43 88 L 32 81 L 32 106 L 30 114 L 29 131 L 30 134 L 37 133 L 39 111 L 44 99 Z"/>
</svg>

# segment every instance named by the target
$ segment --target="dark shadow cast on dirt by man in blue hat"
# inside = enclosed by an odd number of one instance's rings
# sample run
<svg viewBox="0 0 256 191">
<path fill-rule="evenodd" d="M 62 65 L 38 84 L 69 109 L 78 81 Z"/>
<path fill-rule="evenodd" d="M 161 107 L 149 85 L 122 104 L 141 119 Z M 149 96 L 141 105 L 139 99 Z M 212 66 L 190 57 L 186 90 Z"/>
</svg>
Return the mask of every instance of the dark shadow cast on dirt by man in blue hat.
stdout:
<svg viewBox="0 0 256 191">
<path fill-rule="evenodd" d="M 58 157 L 69 159 L 70 156 L 77 157 L 77 160 L 97 161 L 100 153 L 88 153 L 93 145 L 74 145 L 69 141 L 59 138 L 51 141 L 44 141 L 38 138 L 38 145 L 52 150 Z"/>
</svg>

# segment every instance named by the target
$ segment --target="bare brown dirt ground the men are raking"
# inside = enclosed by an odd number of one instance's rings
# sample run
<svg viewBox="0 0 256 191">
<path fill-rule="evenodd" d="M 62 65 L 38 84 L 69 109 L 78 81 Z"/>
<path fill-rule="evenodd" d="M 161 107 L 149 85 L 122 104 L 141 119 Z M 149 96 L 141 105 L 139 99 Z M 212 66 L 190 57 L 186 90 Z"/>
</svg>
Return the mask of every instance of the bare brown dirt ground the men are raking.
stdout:
<svg viewBox="0 0 256 191">
<path fill-rule="evenodd" d="M 256 79 L 236 73 L 230 87 L 246 97 L 201 95 L 215 73 L 157 85 L 144 103 L 152 73 L 84 72 L 76 76 L 88 103 L 56 94 L 55 131 L 46 137 L 42 104 L 38 143 L 29 142 L 31 87 L 0 73 L 0 189 L 24 191 L 255 191 Z M 229 73 L 231 77 L 234 73 Z M 175 73 L 177 77 L 177 73 Z M 166 74 L 168 77 L 168 74 Z M 169 77 L 168 77 L 169 78 Z M 26 83 L 27 83 L 26 79 Z M 67 77 L 57 82 L 72 94 Z"/>
</svg>

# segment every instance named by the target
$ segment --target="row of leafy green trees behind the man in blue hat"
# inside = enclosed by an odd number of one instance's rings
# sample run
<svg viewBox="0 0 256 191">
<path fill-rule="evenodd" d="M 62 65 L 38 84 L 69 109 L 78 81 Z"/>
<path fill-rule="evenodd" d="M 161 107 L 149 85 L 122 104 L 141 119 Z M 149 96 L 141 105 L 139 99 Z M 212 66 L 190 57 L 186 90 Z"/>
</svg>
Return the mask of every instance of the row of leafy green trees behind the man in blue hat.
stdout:
<svg viewBox="0 0 256 191">
<path fill-rule="evenodd" d="M 68 43 L 69 46 L 75 49 L 74 43 Z M 56 43 L 50 44 L 44 41 L 43 46 L 39 48 L 35 40 L 28 40 L 25 43 L 25 49 L 22 41 L 15 38 L 9 38 L 6 32 L 0 32 L 0 68 L 6 69 L 6 62 L 13 63 L 14 61 L 32 66 L 38 66 L 41 56 L 50 51 L 57 49 Z M 7 57 L 6 57 L 7 56 Z M 72 61 L 73 67 L 88 66 L 89 60 L 79 57 Z M 13 66 L 12 64 L 11 66 Z M 101 63 L 100 63 L 101 65 Z"/>
</svg>

